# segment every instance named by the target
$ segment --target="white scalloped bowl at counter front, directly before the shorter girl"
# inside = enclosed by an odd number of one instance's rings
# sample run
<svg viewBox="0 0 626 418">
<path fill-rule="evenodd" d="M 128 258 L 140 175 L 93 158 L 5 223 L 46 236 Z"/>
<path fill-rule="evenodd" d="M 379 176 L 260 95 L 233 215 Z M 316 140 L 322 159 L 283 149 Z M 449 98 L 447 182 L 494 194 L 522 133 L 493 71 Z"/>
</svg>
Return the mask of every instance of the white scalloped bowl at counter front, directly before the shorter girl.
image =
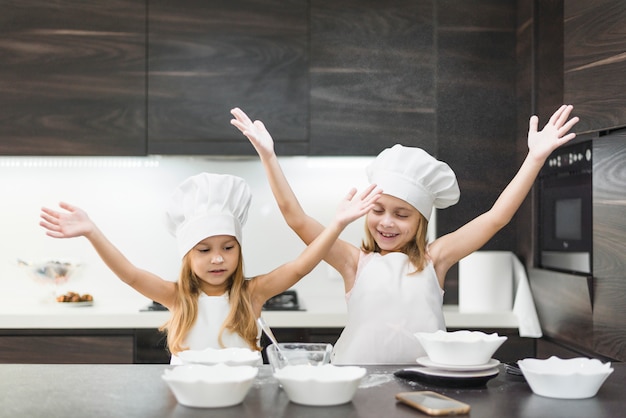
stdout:
<svg viewBox="0 0 626 418">
<path fill-rule="evenodd" d="M 181 405 L 222 408 L 241 403 L 258 372 L 252 366 L 189 364 L 166 369 L 161 377 Z"/>
</svg>

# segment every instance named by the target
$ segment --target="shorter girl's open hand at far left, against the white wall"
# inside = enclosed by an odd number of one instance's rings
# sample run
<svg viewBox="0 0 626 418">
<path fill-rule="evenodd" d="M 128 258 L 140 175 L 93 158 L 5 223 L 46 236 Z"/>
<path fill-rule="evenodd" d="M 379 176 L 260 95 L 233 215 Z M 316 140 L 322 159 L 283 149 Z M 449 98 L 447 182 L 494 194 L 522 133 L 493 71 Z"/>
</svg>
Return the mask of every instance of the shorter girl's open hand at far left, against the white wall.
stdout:
<svg viewBox="0 0 626 418">
<path fill-rule="evenodd" d="M 94 229 L 94 224 L 80 208 L 61 202 L 59 206 L 65 212 L 41 208 L 42 221 L 39 222 L 46 235 L 53 238 L 74 238 L 84 236 Z"/>
</svg>

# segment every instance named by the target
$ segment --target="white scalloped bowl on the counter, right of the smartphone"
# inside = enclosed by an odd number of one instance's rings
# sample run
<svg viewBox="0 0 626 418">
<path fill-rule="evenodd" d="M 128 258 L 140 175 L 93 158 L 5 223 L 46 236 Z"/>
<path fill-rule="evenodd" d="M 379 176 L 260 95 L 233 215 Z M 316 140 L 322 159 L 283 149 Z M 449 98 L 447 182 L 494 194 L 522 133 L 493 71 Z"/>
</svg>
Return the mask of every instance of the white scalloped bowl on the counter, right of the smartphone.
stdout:
<svg viewBox="0 0 626 418">
<path fill-rule="evenodd" d="M 559 399 L 585 399 L 596 396 L 600 386 L 613 373 L 611 363 L 576 357 L 547 360 L 526 358 L 517 362 L 530 388 L 537 395 Z"/>
</svg>

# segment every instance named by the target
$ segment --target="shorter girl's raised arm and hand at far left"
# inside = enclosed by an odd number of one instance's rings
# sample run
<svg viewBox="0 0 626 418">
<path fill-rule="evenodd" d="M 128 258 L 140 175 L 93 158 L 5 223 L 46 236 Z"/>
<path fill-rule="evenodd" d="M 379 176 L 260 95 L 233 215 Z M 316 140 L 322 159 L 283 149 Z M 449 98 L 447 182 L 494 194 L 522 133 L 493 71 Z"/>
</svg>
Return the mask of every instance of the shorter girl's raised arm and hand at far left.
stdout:
<svg viewBox="0 0 626 418">
<path fill-rule="evenodd" d="M 61 202 L 57 211 L 41 209 L 41 222 L 46 235 L 53 238 L 74 238 L 83 236 L 89 240 L 105 264 L 123 282 L 149 299 L 167 307 L 174 303 L 175 284 L 137 268 L 106 238 L 95 223 L 80 208 Z"/>
</svg>

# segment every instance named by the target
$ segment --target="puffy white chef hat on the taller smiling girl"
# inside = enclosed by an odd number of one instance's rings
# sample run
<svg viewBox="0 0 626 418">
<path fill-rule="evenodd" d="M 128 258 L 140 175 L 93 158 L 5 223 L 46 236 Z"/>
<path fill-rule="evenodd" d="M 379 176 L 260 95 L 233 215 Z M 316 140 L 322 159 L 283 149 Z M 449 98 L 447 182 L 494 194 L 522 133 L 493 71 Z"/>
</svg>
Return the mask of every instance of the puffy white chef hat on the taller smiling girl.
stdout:
<svg viewBox="0 0 626 418">
<path fill-rule="evenodd" d="M 454 171 L 421 148 L 396 144 L 378 154 L 366 172 L 370 183 L 411 204 L 426 220 L 433 207 L 443 209 L 459 201 Z"/>
</svg>

